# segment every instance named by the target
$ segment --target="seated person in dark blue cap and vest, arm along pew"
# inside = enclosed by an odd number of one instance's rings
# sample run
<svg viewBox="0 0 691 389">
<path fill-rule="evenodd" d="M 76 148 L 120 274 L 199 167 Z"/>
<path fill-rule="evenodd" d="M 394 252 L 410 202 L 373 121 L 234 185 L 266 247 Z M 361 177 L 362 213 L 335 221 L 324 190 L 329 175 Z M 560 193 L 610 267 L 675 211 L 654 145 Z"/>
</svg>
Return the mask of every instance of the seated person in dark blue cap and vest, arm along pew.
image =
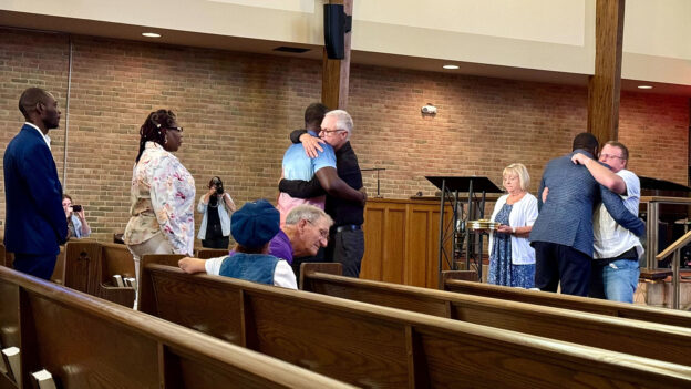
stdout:
<svg viewBox="0 0 691 389">
<path fill-rule="evenodd" d="M 297 289 L 290 265 L 268 254 L 279 223 L 278 209 L 266 199 L 246 203 L 231 216 L 230 234 L 237 242 L 234 255 L 209 260 L 185 257 L 178 266 L 189 274 L 207 273 Z"/>
</svg>

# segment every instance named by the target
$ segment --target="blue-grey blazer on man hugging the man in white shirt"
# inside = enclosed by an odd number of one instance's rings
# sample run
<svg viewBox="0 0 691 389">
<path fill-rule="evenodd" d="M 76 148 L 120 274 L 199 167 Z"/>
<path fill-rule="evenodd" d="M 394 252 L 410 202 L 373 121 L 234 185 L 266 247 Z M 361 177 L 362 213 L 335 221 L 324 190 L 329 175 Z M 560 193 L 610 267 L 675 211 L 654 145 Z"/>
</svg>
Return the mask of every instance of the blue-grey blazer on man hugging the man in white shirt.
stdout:
<svg viewBox="0 0 691 389">
<path fill-rule="evenodd" d="M 592 256 L 592 212 L 600 202 L 612 218 L 637 236 L 646 233 L 646 225 L 625 206 L 621 197 L 598 184 L 582 165 L 571 162 L 577 150 L 551 160 L 545 167 L 537 192 L 539 214 L 530 231 L 530 242 L 548 242 L 573 247 Z M 542 194 L 549 188 L 543 204 Z"/>
</svg>

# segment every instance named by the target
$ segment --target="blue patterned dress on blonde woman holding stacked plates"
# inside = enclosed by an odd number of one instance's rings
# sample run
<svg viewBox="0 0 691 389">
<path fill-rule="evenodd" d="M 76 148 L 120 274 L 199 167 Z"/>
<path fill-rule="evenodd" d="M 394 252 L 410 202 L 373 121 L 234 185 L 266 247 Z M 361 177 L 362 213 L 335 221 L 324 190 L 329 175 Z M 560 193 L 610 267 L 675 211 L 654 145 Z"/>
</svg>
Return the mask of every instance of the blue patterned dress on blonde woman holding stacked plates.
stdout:
<svg viewBox="0 0 691 389">
<path fill-rule="evenodd" d="M 508 225 L 508 215 L 510 215 L 513 207 L 513 204 L 504 204 L 494 221 Z M 535 265 L 512 264 L 510 246 L 510 234 L 494 232 L 494 246 L 492 257 L 489 257 L 487 283 L 526 289 L 535 287 Z"/>
</svg>

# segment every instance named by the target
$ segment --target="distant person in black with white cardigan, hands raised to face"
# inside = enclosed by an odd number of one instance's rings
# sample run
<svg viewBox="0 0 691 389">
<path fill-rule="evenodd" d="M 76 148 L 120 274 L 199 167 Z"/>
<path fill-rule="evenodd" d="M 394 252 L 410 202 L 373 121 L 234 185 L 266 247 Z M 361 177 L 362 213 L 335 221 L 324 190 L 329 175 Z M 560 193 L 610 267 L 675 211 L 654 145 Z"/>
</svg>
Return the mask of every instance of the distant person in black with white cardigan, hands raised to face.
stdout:
<svg viewBox="0 0 691 389">
<path fill-rule="evenodd" d="M 202 225 L 197 237 L 202 246 L 207 248 L 228 248 L 230 243 L 230 214 L 235 212 L 235 203 L 225 192 L 220 177 L 209 181 L 209 191 L 199 198 L 197 212 L 202 213 Z"/>
</svg>

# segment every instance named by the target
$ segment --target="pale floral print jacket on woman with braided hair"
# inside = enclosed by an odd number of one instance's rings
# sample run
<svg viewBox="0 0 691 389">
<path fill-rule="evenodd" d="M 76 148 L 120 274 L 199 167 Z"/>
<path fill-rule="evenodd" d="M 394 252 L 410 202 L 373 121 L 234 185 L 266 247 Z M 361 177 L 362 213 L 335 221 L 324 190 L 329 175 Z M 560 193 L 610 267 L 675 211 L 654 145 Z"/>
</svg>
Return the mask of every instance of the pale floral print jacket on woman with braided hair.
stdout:
<svg viewBox="0 0 691 389">
<path fill-rule="evenodd" d="M 164 234 L 176 254 L 192 255 L 194 246 L 195 182 L 177 157 L 155 142 L 146 142 L 134 166 L 132 217 L 123 240 L 144 243 Z"/>
</svg>

